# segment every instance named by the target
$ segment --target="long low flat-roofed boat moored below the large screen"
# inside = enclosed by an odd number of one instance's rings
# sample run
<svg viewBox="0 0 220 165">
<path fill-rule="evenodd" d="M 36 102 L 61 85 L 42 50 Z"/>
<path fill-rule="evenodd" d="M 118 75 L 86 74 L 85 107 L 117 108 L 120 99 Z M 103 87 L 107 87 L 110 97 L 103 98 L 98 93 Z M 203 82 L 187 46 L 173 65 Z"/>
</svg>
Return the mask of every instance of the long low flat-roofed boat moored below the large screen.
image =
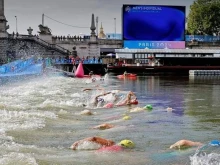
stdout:
<svg viewBox="0 0 220 165">
<path fill-rule="evenodd" d="M 220 49 L 116 49 L 109 72 L 189 74 L 190 70 L 220 70 Z"/>
</svg>

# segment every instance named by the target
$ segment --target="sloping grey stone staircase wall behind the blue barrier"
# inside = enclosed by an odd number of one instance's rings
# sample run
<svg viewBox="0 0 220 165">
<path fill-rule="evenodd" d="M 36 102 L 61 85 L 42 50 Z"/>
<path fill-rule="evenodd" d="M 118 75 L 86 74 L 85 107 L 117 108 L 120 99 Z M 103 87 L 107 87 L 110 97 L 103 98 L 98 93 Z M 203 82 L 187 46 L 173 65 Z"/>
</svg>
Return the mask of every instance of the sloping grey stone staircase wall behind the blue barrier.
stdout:
<svg viewBox="0 0 220 165">
<path fill-rule="evenodd" d="M 67 49 L 46 42 L 38 36 L 8 35 L 0 38 L 1 64 L 31 56 L 56 58 L 67 56 L 69 53 Z"/>
</svg>

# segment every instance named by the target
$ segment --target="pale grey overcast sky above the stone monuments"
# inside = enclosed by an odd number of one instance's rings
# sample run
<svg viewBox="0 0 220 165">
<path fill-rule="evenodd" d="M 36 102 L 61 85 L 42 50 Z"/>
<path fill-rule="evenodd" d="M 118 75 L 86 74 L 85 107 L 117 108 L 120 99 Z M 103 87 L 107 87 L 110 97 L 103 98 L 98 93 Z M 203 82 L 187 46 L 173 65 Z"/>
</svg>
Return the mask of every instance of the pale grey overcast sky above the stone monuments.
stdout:
<svg viewBox="0 0 220 165">
<path fill-rule="evenodd" d="M 188 14 L 193 0 L 4 0 L 4 2 L 5 17 L 10 26 L 9 33 L 16 31 L 15 16 L 17 16 L 20 34 L 27 34 L 28 27 L 33 28 L 33 34 L 38 34 L 38 25 L 42 23 L 44 13 L 64 24 L 86 27 L 74 28 L 45 17 L 44 25 L 52 30 L 53 35 L 72 36 L 80 33 L 90 34 L 92 13 L 99 18 L 99 28 L 102 22 L 105 33 L 114 33 L 114 18 L 116 18 L 116 32 L 121 33 L 123 4 L 186 6 Z"/>
</svg>

